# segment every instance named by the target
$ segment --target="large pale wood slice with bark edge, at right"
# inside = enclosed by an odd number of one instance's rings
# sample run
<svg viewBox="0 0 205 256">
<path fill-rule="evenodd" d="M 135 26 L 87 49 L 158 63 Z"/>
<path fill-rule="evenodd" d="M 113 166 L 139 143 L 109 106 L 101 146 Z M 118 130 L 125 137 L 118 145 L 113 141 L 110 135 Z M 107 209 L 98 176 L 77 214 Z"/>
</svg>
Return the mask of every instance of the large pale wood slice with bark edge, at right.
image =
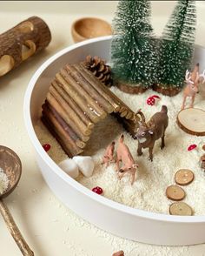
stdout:
<svg viewBox="0 0 205 256">
<path fill-rule="evenodd" d="M 205 111 L 195 108 L 184 109 L 178 113 L 177 124 L 188 134 L 205 136 Z"/>
</svg>

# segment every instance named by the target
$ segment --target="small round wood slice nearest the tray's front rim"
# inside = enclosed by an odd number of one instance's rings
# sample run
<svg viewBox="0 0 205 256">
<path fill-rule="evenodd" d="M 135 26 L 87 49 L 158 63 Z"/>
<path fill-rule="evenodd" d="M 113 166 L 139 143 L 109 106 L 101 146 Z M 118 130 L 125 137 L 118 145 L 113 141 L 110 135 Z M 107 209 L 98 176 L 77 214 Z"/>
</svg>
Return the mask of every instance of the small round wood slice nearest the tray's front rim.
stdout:
<svg viewBox="0 0 205 256">
<path fill-rule="evenodd" d="M 191 216 L 193 211 L 188 204 L 184 202 L 175 202 L 169 206 L 169 213 L 171 215 Z"/>
</svg>

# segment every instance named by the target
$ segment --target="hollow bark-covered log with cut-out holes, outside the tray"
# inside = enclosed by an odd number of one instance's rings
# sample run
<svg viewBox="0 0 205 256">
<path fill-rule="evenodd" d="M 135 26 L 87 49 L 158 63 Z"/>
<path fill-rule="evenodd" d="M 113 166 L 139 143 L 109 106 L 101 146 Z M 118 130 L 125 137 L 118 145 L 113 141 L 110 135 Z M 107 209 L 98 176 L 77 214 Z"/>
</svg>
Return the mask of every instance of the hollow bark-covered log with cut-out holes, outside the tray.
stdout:
<svg viewBox="0 0 205 256">
<path fill-rule="evenodd" d="M 47 24 L 40 17 L 30 17 L 0 35 L 0 77 L 50 44 Z"/>
</svg>

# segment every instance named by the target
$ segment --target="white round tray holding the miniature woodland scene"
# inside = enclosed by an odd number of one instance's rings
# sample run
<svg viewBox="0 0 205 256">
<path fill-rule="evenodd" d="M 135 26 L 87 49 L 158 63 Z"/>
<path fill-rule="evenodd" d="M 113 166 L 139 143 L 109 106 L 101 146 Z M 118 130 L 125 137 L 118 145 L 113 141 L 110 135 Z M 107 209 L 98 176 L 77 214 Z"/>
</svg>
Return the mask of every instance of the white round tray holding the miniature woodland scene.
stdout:
<svg viewBox="0 0 205 256">
<path fill-rule="evenodd" d="M 34 126 L 41 116 L 41 106 L 50 81 L 63 65 L 82 61 L 87 55 L 109 60 L 111 36 L 98 37 L 69 46 L 50 57 L 34 74 L 24 98 L 24 120 L 36 150 L 43 178 L 56 196 L 83 219 L 126 239 L 167 246 L 205 242 L 205 216 L 170 216 L 137 210 L 89 191 L 69 178 L 43 150 Z M 205 66 L 205 50 L 195 48 L 195 63 Z M 140 107 L 140 106 L 139 106 Z"/>
</svg>

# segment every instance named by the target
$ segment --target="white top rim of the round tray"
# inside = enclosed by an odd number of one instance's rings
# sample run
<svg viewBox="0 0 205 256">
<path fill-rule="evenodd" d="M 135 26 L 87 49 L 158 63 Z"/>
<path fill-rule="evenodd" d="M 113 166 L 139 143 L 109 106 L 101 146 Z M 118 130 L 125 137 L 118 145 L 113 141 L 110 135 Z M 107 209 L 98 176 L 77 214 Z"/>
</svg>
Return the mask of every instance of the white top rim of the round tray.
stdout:
<svg viewBox="0 0 205 256">
<path fill-rule="evenodd" d="M 31 77 L 28 88 L 24 95 L 24 101 L 23 101 L 23 118 L 24 123 L 26 126 L 26 130 L 29 134 L 30 140 L 32 144 L 34 145 L 36 152 L 44 159 L 44 162 L 46 162 L 47 165 L 50 166 L 50 169 L 52 169 L 53 172 L 56 172 L 56 175 L 58 175 L 61 179 L 63 179 L 65 182 L 69 183 L 73 188 L 75 188 L 78 192 L 82 192 L 84 195 L 88 196 L 90 199 L 93 199 L 96 201 L 96 203 L 100 203 L 106 207 L 113 208 L 119 212 L 127 213 L 129 215 L 133 215 L 136 217 L 140 217 L 142 219 L 153 219 L 153 220 L 160 220 L 162 222 L 173 222 L 173 223 L 205 223 L 205 215 L 196 215 L 196 216 L 174 216 L 164 213 L 157 213 L 157 212 L 148 212 L 141 209 L 132 208 L 128 205 L 122 205 L 120 203 L 117 203 L 116 201 L 113 201 L 111 199 L 107 199 L 104 197 L 99 197 L 99 195 L 96 195 L 96 193 L 90 191 L 85 186 L 81 185 L 79 182 L 77 182 L 75 179 L 72 179 L 69 177 L 68 174 L 64 173 L 62 169 L 56 165 L 54 160 L 50 158 L 50 156 L 43 150 L 42 145 L 40 144 L 36 132 L 34 130 L 34 127 L 32 125 L 31 115 L 30 115 L 30 99 L 32 96 L 32 92 L 35 88 L 37 79 L 41 76 L 43 71 L 50 66 L 57 58 L 62 57 L 65 53 L 68 51 L 72 51 L 78 47 L 81 47 L 86 44 L 92 44 L 100 41 L 110 40 L 112 36 L 106 36 L 106 37 L 97 37 L 92 38 L 77 44 L 73 44 L 71 46 L 68 46 L 64 48 L 61 51 L 56 52 L 53 56 L 51 56 L 48 60 L 46 60 L 34 73 L 34 75 Z M 204 48 L 201 45 L 195 45 L 195 48 Z M 40 169 L 40 168 L 39 168 Z"/>
</svg>

